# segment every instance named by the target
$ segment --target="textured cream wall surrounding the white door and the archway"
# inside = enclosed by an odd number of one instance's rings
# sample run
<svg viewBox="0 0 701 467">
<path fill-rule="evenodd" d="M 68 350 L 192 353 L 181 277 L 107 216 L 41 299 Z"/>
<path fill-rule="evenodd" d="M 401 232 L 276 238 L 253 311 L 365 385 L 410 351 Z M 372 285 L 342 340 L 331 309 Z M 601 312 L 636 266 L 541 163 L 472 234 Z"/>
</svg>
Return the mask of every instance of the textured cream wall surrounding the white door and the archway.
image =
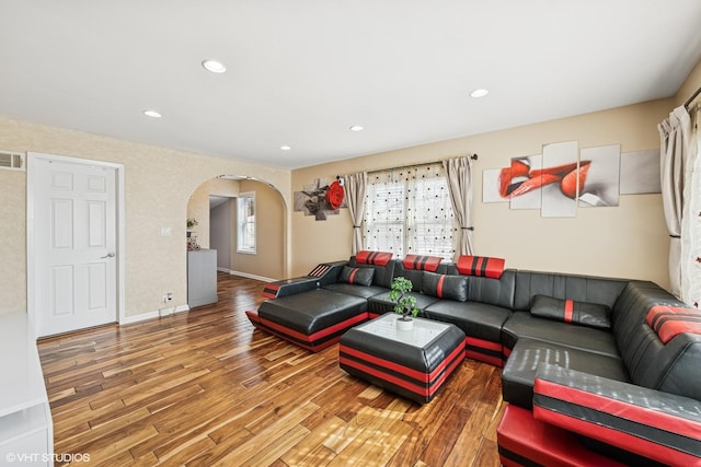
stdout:
<svg viewBox="0 0 701 467">
<path fill-rule="evenodd" d="M 204 182 L 221 174 L 253 176 L 279 188 L 284 203 L 291 206 L 289 171 L 257 164 L 10 118 L 0 118 L 0 148 L 124 164 L 127 316 L 158 310 L 166 291 L 174 293 L 173 305 L 186 304 L 187 202 Z M 25 191 L 24 173 L 0 171 L 0 220 L 11 227 L 5 230 L 1 249 L 0 313 L 26 311 Z M 172 235 L 161 237 L 161 226 L 172 227 Z"/>
</svg>

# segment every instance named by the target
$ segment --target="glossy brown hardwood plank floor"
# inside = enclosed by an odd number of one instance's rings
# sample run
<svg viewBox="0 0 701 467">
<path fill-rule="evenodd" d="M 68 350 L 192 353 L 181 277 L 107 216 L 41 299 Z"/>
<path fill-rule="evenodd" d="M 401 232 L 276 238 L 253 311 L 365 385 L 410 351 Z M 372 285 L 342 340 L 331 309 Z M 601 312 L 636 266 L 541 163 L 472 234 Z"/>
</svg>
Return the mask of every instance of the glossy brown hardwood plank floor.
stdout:
<svg viewBox="0 0 701 467">
<path fill-rule="evenodd" d="M 89 455 L 77 466 L 499 465 L 498 369 L 466 360 L 418 406 L 346 374 L 337 345 L 314 354 L 254 330 L 244 311 L 263 282 L 220 273 L 218 288 L 212 306 L 39 341 L 58 455 Z"/>
</svg>

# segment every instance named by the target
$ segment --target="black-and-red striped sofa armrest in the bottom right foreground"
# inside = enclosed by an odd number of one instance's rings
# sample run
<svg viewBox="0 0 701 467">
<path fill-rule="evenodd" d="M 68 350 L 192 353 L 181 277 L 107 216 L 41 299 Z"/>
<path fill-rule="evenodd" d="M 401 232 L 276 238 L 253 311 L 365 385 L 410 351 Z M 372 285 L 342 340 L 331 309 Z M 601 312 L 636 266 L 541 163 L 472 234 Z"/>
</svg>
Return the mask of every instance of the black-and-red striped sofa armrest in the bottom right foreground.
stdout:
<svg viewBox="0 0 701 467">
<path fill-rule="evenodd" d="M 541 364 L 533 417 L 663 464 L 701 465 L 696 399 Z"/>
</svg>

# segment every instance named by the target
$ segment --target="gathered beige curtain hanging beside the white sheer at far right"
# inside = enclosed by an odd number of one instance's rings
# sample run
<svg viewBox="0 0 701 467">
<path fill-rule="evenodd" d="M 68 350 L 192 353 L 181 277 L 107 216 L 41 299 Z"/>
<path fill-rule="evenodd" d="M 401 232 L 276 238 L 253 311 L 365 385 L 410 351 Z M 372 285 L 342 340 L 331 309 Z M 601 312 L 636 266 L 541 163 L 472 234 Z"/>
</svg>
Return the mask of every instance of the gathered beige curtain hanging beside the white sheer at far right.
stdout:
<svg viewBox="0 0 701 467">
<path fill-rule="evenodd" d="M 660 183 L 665 221 L 669 231 L 670 292 L 683 300 L 681 292 L 681 219 L 686 183 L 691 118 L 683 106 L 675 108 L 659 130 Z"/>
</svg>

